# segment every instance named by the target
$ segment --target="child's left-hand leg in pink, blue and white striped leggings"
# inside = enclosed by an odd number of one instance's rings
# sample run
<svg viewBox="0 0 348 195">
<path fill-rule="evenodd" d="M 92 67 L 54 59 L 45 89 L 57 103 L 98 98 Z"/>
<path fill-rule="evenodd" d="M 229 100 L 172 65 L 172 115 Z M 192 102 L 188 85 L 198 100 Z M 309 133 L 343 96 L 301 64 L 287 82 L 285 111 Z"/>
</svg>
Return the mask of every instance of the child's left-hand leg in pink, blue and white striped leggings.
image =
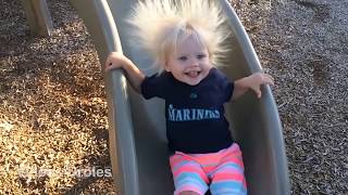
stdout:
<svg viewBox="0 0 348 195">
<path fill-rule="evenodd" d="M 170 162 L 175 195 L 203 195 L 208 191 L 208 177 L 200 165 L 189 156 L 176 153 L 171 156 Z"/>
</svg>

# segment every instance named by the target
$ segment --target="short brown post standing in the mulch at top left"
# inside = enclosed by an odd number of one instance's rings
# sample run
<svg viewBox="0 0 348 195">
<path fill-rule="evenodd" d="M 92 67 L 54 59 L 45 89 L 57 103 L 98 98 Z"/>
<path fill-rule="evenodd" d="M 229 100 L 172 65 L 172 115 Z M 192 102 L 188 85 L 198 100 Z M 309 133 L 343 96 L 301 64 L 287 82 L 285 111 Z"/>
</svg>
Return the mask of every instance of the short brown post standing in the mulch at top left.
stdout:
<svg viewBox="0 0 348 195">
<path fill-rule="evenodd" d="M 46 0 L 22 0 L 32 36 L 50 36 L 53 30 Z"/>
</svg>

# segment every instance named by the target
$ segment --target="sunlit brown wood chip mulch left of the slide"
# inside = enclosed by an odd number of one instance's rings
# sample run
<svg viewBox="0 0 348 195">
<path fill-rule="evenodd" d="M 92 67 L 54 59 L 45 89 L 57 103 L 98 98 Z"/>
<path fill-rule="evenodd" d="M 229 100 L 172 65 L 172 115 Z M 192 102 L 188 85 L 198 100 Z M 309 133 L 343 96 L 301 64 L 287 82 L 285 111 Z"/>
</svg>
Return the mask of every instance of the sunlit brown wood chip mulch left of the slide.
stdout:
<svg viewBox="0 0 348 195">
<path fill-rule="evenodd" d="M 86 27 L 67 1 L 48 1 L 53 35 L 32 38 L 20 2 L 0 2 L 0 194 L 115 194 Z"/>
</svg>

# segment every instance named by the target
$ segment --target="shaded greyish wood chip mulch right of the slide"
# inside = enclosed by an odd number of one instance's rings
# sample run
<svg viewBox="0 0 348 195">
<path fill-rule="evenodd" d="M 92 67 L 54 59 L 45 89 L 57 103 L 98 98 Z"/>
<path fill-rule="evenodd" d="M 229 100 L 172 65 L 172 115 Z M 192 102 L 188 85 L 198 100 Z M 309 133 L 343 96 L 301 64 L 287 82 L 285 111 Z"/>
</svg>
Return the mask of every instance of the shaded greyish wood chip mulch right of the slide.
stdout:
<svg viewBox="0 0 348 195">
<path fill-rule="evenodd" d="M 348 1 L 233 1 L 284 128 L 293 194 L 348 194 Z"/>
</svg>

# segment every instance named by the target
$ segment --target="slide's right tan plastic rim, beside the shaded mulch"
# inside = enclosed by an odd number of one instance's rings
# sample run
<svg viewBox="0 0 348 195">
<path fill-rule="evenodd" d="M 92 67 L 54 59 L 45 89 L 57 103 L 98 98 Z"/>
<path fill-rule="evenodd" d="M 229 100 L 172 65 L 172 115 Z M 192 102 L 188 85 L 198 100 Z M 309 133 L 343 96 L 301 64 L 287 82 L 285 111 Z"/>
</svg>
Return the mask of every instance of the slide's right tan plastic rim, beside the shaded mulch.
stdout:
<svg viewBox="0 0 348 195">
<path fill-rule="evenodd" d="M 221 3 L 221 6 L 224 11 L 224 13 L 227 16 L 227 22 L 229 27 L 234 31 L 234 37 L 237 39 L 243 53 L 246 57 L 249 72 L 250 73 L 257 73 L 262 72 L 259 58 L 257 56 L 257 53 L 251 44 L 251 41 L 240 23 L 236 12 L 229 4 L 227 0 L 219 0 Z M 272 167 L 268 167 L 269 169 L 273 169 L 271 172 L 273 172 L 275 176 L 275 179 L 273 180 L 274 190 L 272 194 L 284 194 L 289 195 L 290 194 L 290 182 L 288 177 L 288 166 L 287 166 L 287 157 L 285 153 L 285 144 L 284 144 L 284 138 L 283 138 L 283 128 L 279 120 L 279 115 L 277 112 L 277 107 L 274 101 L 274 98 L 272 95 L 271 89 L 269 87 L 263 88 L 263 98 L 260 101 L 260 116 L 261 116 L 261 123 L 263 125 L 263 129 L 265 132 L 257 132 L 253 131 L 252 133 L 263 133 L 266 135 L 266 139 L 264 142 L 268 142 L 268 154 L 270 158 L 272 158 Z M 243 105 L 243 107 L 249 106 L 249 105 Z M 258 136 L 258 135 L 257 135 Z M 262 138 L 260 135 L 259 138 Z M 251 145 L 253 143 L 250 143 Z M 257 160 L 257 159 L 253 159 Z M 262 168 L 261 166 L 258 166 L 259 168 Z M 265 178 L 266 179 L 266 178 Z M 254 185 L 257 185 L 256 182 L 259 181 L 251 181 Z M 252 192 L 252 188 L 251 188 Z M 254 192 L 256 194 L 262 194 L 261 192 Z"/>
</svg>

